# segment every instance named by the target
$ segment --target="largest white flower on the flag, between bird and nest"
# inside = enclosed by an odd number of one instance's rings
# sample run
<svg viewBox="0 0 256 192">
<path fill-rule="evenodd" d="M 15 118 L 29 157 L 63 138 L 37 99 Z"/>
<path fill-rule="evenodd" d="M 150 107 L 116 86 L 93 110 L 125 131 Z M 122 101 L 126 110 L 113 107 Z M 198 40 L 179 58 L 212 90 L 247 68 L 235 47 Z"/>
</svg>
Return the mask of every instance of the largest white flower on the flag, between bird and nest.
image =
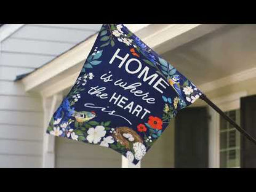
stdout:
<svg viewBox="0 0 256 192">
<path fill-rule="evenodd" d="M 86 139 L 88 140 L 88 142 L 97 144 L 98 142 L 100 142 L 102 137 L 106 135 L 106 130 L 103 126 L 96 126 L 95 128 L 90 127 L 90 129 L 87 130 L 87 134 L 88 135 Z"/>
</svg>

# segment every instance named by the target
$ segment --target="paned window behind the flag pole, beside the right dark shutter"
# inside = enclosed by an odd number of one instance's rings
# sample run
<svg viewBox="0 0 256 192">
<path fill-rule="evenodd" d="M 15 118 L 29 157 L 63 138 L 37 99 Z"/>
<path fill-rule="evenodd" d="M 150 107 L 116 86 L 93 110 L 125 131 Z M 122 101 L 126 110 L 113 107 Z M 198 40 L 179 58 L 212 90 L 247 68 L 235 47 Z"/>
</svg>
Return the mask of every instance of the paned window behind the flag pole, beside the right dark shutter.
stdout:
<svg viewBox="0 0 256 192">
<path fill-rule="evenodd" d="M 240 124 L 240 110 L 226 114 Z M 240 167 L 240 133 L 220 117 L 220 167 Z"/>
</svg>

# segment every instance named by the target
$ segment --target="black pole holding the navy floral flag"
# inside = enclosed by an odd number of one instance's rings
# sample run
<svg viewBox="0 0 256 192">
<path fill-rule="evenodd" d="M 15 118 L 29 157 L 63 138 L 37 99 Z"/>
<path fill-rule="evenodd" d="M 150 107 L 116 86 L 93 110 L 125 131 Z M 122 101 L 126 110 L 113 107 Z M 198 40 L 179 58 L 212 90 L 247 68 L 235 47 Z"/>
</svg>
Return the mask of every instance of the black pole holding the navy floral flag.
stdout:
<svg viewBox="0 0 256 192">
<path fill-rule="evenodd" d="M 256 145 L 256 140 L 252 135 L 250 135 L 246 130 L 242 129 L 236 122 L 234 122 L 230 117 L 228 117 L 218 106 L 216 106 L 214 103 L 212 103 L 209 98 L 206 97 L 206 95 L 202 94 L 200 97 L 204 102 L 206 102 L 208 105 L 210 105 L 215 111 L 217 111 L 226 121 L 230 122 L 231 125 L 234 126 L 239 132 L 241 132 L 242 135 L 244 135 L 246 138 L 248 138 L 251 142 L 253 142 Z"/>
</svg>

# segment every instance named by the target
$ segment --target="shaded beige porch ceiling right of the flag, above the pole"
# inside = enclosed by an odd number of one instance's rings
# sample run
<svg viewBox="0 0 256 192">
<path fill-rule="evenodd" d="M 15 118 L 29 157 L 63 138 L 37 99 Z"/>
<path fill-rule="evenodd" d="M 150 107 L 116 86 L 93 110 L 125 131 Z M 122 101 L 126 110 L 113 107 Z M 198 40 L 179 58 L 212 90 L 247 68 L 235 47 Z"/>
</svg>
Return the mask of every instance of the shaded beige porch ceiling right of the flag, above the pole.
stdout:
<svg viewBox="0 0 256 192">
<path fill-rule="evenodd" d="M 256 67 L 256 25 L 226 25 L 163 54 L 196 85 Z M 254 73 L 255 74 L 255 73 Z M 256 74 L 255 74 L 256 75 Z M 239 75 L 233 78 L 239 80 Z M 207 87 L 204 87 L 206 89 Z"/>
</svg>

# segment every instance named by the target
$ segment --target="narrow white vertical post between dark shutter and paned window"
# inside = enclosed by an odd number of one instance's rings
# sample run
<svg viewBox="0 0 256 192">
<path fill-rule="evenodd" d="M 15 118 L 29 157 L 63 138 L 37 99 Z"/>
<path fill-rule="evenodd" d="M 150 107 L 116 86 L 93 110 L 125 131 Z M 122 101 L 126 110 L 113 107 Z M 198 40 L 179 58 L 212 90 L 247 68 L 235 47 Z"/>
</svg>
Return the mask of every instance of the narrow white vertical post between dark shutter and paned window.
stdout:
<svg viewBox="0 0 256 192">
<path fill-rule="evenodd" d="M 210 106 L 209 121 L 209 167 L 220 167 L 220 116 Z"/>
</svg>

